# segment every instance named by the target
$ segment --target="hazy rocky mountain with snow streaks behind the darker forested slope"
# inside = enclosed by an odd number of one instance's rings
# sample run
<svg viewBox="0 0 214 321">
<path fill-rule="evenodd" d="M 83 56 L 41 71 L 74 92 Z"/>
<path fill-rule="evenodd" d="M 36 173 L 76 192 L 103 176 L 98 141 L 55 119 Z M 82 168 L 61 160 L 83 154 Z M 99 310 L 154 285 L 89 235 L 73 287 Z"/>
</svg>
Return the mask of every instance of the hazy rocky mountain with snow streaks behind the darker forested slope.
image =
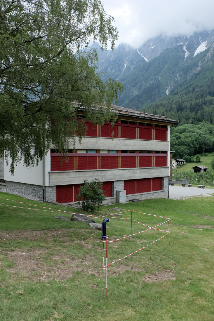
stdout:
<svg viewBox="0 0 214 321">
<path fill-rule="evenodd" d="M 102 51 L 97 43 L 92 47 L 97 49 L 98 72 L 103 80 L 111 77 L 124 85 L 118 104 L 145 110 L 147 105 L 174 95 L 185 82 L 194 85 L 191 79 L 196 79 L 205 67 L 212 77 L 209 69 L 213 42 L 214 30 L 189 36 L 160 35 L 147 40 L 139 48 L 120 44 L 114 51 Z M 205 83 L 210 79 L 204 73 L 203 77 Z"/>
</svg>

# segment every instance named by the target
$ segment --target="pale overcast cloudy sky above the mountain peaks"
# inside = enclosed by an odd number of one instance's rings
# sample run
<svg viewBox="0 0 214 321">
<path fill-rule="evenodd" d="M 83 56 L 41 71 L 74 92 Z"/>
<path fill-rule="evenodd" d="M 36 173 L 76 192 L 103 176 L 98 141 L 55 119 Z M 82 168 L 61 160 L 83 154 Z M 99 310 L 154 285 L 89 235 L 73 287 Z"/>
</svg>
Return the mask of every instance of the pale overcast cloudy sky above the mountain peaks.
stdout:
<svg viewBox="0 0 214 321">
<path fill-rule="evenodd" d="M 101 0 L 106 13 L 115 19 L 119 40 L 139 47 L 164 32 L 190 35 L 214 29 L 213 0 Z"/>
</svg>

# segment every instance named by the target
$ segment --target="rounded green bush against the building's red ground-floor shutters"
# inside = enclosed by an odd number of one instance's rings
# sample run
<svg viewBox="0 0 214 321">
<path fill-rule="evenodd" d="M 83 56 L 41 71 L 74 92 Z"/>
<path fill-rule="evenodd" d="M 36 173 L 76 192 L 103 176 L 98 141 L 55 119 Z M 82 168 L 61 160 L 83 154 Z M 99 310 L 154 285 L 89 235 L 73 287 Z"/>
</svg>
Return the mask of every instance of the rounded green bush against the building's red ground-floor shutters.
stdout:
<svg viewBox="0 0 214 321">
<path fill-rule="evenodd" d="M 96 208 L 98 209 L 106 197 L 102 188 L 103 182 L 99 179 L 94 178 L 91 182 L 84 179 L 84 185 L 79 188 L 77 196 L 79 207 L 87 212 L 94 212 Z"/>
</svg>

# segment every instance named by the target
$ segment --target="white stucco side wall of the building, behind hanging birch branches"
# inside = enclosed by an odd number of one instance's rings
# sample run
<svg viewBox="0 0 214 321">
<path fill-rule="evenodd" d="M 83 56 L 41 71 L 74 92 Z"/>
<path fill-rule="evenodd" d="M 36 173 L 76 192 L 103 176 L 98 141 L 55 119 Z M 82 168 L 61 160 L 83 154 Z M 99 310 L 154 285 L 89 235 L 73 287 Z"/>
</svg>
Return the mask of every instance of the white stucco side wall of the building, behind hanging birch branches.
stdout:
<svg viewBox="0 0 214 321">
<path fill-rule="evenodd" d="M 42 161 L 38 166 L 30 166 L 27 168 L 23 162 L 17 163 L 15 166 L 14 176 L 9 172 L 10 162 L 6 166 L 4 161 L 4 180 L 11 182 L 19 182 L 26 184 L 34 184 L 42 186 Z M 50 171 L 50 151 L 45 156 L 45 186 L 49 185 L 49 171 Z"/>
</svg>

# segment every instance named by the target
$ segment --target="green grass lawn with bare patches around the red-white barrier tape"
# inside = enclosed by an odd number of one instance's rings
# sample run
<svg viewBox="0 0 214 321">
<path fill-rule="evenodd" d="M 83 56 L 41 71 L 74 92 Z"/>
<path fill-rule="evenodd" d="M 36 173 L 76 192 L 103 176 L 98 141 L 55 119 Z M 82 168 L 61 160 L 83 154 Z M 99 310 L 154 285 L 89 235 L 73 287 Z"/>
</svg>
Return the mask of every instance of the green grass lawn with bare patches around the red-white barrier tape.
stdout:
<svg viewBox="0 0 214 321">
<path fill-rule="evenodd" d="M 1 192 L 0 197 L 26 202 Z M 32 207 L 3 199 L 1 203 Z M 27 203 L 80 213 L 49 203 Z M 171 242 L 167 235 L 110 265 L 105 298 L 102 231 L 56 220 L 56 213 L 48 209 L 0 205 L 0 321 L 214 320 L 214 197 L 129 202 L 101 206 L 99 212 L 109 214 L 114 206 L 170 217 Z M 149 226 L 164 221 L 132 215 Z M 130 218 L 130 212 L 123 217 Z M 131 231 L 130 220 L 111 217 L 107 225 L 109 240 L 146 229 L 133 222 Z M 160 229 L 168 230 L 168 224 Z M 109 243 L 108 263 L 164 234 L 150 230 Z"/>
</svg>

